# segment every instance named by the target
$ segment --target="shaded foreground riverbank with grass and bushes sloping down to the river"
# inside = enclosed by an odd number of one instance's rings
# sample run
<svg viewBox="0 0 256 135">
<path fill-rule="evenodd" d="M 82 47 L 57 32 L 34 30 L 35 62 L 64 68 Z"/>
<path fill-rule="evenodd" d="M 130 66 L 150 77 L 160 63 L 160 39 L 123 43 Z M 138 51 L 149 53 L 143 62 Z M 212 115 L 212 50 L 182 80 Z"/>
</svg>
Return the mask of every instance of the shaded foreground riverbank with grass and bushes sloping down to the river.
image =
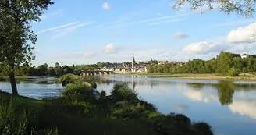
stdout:
<svg viewBox="0 0 256 135">
<path fill-rule="evenodd" d="M 126 84 L 116 84 L 107 96 L 95 91 L 90 81 L 71 76 L 63 77 L 67 85 L 62 96 L 51 100 L 0 92 L 0 134 L 212 135 L 207 123 L 162 115 Z"/>
</svg>

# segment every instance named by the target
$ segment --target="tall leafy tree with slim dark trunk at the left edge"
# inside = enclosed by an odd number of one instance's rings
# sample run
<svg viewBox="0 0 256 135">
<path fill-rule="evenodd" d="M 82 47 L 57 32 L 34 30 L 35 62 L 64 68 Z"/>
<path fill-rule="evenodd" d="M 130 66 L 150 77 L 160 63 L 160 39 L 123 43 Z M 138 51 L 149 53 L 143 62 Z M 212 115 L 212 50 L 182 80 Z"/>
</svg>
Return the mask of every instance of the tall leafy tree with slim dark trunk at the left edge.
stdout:
<svg viewBox="0 0 256 135">
<path fill-rule="evenodd" d="M 9 66 L 12 94 L 18 94 L 15 67 L 34 59 L 32 50 L 37 36 L 31 22 L 40 16 L 51 0 L 1 0 L 0 1 L 0 62 Z"/>
</svg>

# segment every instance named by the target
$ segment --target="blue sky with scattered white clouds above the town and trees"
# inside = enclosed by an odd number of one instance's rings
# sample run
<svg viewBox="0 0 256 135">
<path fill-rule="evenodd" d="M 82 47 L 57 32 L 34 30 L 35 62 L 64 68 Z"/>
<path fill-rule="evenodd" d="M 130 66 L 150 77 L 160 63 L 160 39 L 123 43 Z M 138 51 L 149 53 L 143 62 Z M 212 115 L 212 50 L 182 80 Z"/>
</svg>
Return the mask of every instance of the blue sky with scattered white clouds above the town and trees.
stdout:
<svg viewBox="0 0 256 135">
<path fill-rule="evenodd" d="M 201 14 L 170 0 L 55 1 L 33 23 L 35 65 L 208 59 L 225 50 L 255 53 L 254 18 Z M 255 38 L 256 39 L 256 38 Z"/>
</svg>

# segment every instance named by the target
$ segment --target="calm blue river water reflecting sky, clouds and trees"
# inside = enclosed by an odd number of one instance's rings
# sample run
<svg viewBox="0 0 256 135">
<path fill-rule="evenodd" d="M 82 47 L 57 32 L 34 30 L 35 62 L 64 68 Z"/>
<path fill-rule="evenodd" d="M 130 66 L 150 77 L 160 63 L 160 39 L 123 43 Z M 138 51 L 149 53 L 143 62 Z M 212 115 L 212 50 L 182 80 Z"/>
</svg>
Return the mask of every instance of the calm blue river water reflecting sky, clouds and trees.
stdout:
<svg viewBox="0 0 256 135">
<path fill-rule="evenodd" d="M 183 113 L 194 121 L 209 123 L 216 135 L 256 135 L 256 82 L 181 80 L 137 76 L 101 76 L 98 91 L 109 94 L 115 83 L 126 82 L 141 99 L 159 112 Z M 61 84 L 18 84 L 19 92 L 31 98 L 52 98 L 61 94 Z M 9 91 L 9 83 L 0 83 Z"/>
</svg>

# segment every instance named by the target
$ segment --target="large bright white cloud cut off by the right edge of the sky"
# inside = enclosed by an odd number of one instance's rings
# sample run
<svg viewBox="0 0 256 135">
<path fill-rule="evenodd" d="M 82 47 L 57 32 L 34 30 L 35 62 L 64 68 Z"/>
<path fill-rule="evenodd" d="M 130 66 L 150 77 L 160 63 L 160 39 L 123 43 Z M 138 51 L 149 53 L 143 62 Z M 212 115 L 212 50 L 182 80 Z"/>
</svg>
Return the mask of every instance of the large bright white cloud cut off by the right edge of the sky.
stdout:
<svg viewBox="0 0 256 135">
<path fill-rule="evenodd" d="M 256 41 L 256 22 L 246 27 L 231 30 L 226 37 L 229 44 L 253 43 Z"/>
</svg>

